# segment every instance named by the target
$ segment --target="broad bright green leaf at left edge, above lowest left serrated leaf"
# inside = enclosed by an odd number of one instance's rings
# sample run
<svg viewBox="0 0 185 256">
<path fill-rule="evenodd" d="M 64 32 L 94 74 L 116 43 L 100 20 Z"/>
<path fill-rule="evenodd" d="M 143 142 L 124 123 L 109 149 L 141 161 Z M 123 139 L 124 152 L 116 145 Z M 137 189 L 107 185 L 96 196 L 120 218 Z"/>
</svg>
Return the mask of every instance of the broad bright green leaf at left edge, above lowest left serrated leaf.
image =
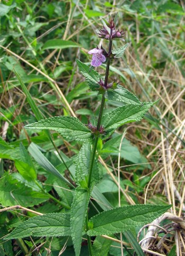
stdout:
<svg viewBox="0 0 185 256">
<path fill-rule="evenodd" d="M 48 195 L 33 191 L 30 187 L 13 179 L 10 174 L 0 179 L 0 202 L 3 206 L 20 204 L 23 207 L 32 207 L 48 199 Z"/>
</svg>

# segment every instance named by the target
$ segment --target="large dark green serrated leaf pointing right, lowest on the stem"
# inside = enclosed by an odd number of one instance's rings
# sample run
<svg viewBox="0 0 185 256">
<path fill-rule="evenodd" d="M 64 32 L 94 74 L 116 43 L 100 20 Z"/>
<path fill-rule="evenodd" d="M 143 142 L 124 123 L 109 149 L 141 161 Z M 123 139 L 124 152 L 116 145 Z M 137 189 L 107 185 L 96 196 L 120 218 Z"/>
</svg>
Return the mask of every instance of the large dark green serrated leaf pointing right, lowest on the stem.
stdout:
<svg viewBox="0 0 185 256">
<path fill-rule="evenodd" d="M 87 235 L 109 235 L 128 231 L 131 228 L 150 223 L 160 217 L 171 206 L 155 204 L 136 204 L 101 212 L 90 219 L 93 228 Z"/>
</svg>

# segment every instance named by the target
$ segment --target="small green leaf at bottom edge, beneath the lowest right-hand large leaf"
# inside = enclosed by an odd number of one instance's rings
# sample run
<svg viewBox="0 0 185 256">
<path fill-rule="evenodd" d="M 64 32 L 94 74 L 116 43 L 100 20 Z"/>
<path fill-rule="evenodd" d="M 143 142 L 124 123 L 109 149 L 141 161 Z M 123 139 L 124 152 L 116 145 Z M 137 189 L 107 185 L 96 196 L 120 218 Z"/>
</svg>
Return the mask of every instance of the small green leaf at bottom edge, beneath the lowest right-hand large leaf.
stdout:
<svg viewBox="0 0 185 256">
<path fill-rule="evenodd" d="M 92 249 L 95 256 L 107 256 L 112 241 L 101 236 L 96 236 Z"/>
</svg>

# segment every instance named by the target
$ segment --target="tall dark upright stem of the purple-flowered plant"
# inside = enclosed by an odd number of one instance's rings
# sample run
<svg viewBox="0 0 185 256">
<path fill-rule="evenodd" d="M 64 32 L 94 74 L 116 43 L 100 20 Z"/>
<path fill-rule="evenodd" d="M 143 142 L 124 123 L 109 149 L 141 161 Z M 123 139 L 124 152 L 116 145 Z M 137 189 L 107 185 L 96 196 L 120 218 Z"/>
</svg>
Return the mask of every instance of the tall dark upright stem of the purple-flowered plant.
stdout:
<svg viewBox="0 0 185 256">
<path fill-rule="evenodd" d="M 112 29 L 110 30 L 110 34 L 112 35 Z M 109 67 L 110 67 L 111 51 L 112 51 L 112 39 L 109 40 L 109 52 L 108 52 L 108 60 L 107 60 L 107 66 L 106 66 L 106 71 L 105 71 L 105 80 L 104 80 L 104 86 L 105 87 L 107 87 L 108 79 L 109 79 Z M 100 126 L 101 126 L 104 104 L 105 104 L 105 97 L 102 95 L 100 112 L 99 112 L 99 117 L 98 117 L 98 124 L 97 124 L 97 130 L 98 131 L 100 130 Z M 90 189 L 90 186 L 91 186 L 91 177 L 92 177 L 92 170 L 93 170 L 93 164 L 94 164 L 94 158 L 95 158 L 97 144 L 98 144 L 98 136 L 96 136 L 95 141 L 94 141 L 94 145 L 93 145 L 91 164 L 90 164 L 90 170 L 89 170 L 89 177 L 88 177 L 88 183 L 87 183 L 87 186 L 88 186 L 89 189 Z M 86 229 L 88 230 L 88 214 L 86 215 Z M 87 235 L 87 243 L 88 243 L 90 256 L 93 256 L 92 245 L 91 245 L 91 237 L 88 236 L 88 235 Z"/>
</svg>

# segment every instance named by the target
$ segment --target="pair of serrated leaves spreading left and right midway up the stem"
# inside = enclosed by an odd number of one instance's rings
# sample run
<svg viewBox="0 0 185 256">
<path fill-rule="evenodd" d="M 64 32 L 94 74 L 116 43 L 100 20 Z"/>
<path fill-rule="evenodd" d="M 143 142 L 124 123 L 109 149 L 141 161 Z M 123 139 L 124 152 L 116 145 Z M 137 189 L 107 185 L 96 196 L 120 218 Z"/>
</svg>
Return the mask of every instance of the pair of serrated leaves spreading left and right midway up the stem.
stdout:
<svg viewBox="0 0 185 256">
<path fill-rule="evenodd" d="M 102 139 L 108 138 L 119 126 L 130 122 L 142 120 L 145 113 L 153 103 L 141 103 L 139 105 L 126 105 L 112 110 L 102 118 L 102 125 L 105 128 L 105 135 Z M 78 140 L 86 143 L 93 143 L 91 131 L 76 117 L 55 116 L 40 120 L 37 123 L 26 125 L 27 129 L 53 130 L 69 140 Z"/>
</svg>

